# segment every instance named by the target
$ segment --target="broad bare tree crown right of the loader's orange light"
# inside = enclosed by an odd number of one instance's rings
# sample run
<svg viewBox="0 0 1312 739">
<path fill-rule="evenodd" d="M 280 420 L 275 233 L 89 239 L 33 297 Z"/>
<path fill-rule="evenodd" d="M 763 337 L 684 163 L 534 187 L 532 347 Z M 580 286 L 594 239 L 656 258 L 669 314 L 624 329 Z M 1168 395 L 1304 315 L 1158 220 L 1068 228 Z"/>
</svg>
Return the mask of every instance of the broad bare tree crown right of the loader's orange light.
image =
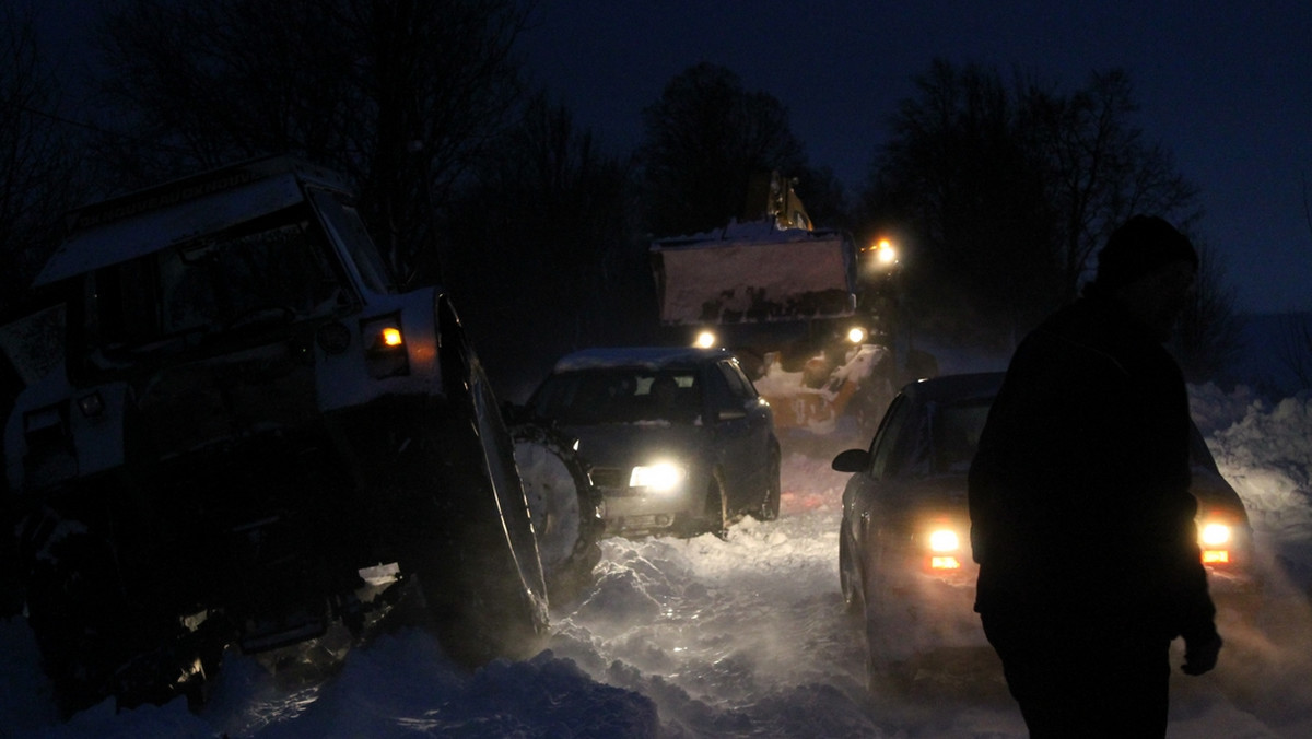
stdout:
<svg viewBox="0 0 1312 739">
<path fill-rule="evenodd" d="M 971 335 L 1002 336 L 1073 299 L 1097 249 L 1136 213 L 1190 228 L 1197 188 L 1134 125 L 1124 72 L 1065 95 L 1015 75 L 935 60 L 903 101 L 863 196 L 870 227 L 907 234 L 908 305 Z M 1206 289 L 1221 340 L 1231 311 Z M 918 310 L 917 310 L 918 306 Z M 1206 326 L 1199 324 L 1198 331 Z M 984 331 L 984 335 L 998 333 Z M 1202 336 L 1197 336 L 1202 340 Z"/>
</svg>

